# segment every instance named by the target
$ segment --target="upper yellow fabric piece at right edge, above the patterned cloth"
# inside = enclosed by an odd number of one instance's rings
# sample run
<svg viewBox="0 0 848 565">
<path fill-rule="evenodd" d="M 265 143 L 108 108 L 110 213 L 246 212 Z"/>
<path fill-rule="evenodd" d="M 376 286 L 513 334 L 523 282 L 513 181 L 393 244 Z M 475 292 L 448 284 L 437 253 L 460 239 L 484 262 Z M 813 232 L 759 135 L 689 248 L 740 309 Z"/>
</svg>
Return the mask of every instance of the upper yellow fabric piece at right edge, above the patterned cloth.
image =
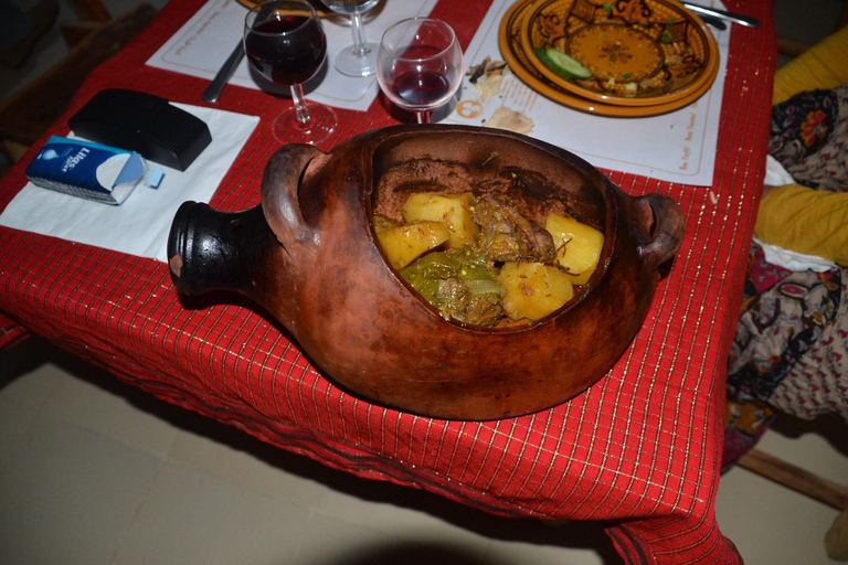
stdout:
<svg viewBox="0 0 848 565">
<path fill-rule="evenodd" d="M 845 84 L 848 84 L 848 26 L 777 70 L 772 104 L 780 104 L 806 90 Z"/>
</svg>

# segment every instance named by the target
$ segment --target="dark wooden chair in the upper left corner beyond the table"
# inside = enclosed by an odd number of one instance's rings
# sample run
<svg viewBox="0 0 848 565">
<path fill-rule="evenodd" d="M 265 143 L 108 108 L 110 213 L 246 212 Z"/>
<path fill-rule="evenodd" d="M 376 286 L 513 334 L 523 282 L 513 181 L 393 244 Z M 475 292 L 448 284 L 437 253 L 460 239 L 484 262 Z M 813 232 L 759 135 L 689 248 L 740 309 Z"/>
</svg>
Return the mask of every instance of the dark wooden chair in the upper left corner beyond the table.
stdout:
<svg viewBox="0 0 848 565">
<path fill-rule="evenodd" d="M 60 24 L 65 42 L 73 47 L 71 52 L 0 103 L 0 151 L 11 163 L 65 113 L 88 73 L 135 38 L 157 13 L 142 3 L 112 18 L 100 0 L 75 0 L 75 4 L 83 21 Z"/>
</svg>

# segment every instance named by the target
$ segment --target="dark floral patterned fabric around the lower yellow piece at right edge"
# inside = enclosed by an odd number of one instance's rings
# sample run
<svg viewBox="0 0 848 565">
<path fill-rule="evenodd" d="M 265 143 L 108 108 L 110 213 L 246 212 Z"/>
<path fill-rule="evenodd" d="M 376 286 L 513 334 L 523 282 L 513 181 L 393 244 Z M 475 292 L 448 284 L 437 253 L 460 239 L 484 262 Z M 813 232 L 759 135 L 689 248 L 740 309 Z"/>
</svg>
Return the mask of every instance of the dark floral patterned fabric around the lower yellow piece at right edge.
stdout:
<svg viewBox="0 0 848 565">
<path fill-rule="evenodd" d="M 802 93 L 772 111 L 768 152 L 796 182 L 848 191 L 848 86 Z M 723 466 L 777 412 L 848 419 L 848 268 L 792 271 L 754 243 L 728 361 Z"/>
</svg>

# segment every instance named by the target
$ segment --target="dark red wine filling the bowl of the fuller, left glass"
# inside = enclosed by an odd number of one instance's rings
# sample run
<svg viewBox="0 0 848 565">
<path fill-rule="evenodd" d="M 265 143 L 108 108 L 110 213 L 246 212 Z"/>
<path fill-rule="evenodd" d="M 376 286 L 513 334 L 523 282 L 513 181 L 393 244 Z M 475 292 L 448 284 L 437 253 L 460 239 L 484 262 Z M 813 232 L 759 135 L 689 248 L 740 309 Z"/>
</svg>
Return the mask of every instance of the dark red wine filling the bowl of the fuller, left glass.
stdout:
<svg viewBox="0 0 848 565">
<path fill-rule="evenodd" d="M 300 33 L 289 32 L 301 28 Z M 267 20 L 245 36 L 244 47 L 254 68 L 274 84 L 303 84 L 315 75 L 327 52 L 327 39 L 318 22 L 304 15 Z M 283 34 L 287 34 L 285 39 Z"/>
</svg>

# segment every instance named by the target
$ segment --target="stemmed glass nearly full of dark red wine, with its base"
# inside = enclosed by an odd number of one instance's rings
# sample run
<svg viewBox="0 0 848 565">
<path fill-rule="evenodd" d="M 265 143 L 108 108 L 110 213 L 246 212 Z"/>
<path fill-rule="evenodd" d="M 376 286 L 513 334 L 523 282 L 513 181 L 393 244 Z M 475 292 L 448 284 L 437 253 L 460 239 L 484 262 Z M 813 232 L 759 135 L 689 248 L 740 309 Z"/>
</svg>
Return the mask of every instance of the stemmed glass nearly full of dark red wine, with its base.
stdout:
<svg viewBox="0 0 848 565">
<path fill-rule="evenodd" d="M 327 54 L 327 38 L 311 4 L 305 0 L 271 0 L 254 6 L 244 20 L 244 52 L 262 76 L 290 87 L 294 104 L 272 127 L 277 140 L 325 141 L 338 124 L 336 113 L 307 102 L 303 87 Z"/>
</svg>

